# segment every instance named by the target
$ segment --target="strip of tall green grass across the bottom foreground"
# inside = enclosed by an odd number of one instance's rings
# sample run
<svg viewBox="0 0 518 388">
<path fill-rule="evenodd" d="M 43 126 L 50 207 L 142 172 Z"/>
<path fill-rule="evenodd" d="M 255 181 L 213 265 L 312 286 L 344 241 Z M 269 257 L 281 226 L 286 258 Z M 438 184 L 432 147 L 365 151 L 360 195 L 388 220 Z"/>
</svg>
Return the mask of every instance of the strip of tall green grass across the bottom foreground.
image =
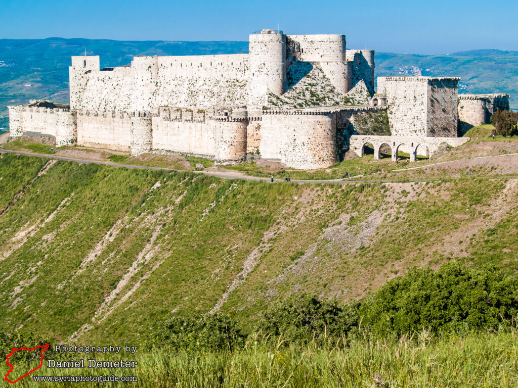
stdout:
<svg viewBox="0 0 518 388">
<path fill-rule="evenodd" d="M 343 342 L 339 342 L 343 345 Z M 261 337 L 232 352 L 171 353 L 124 351 L 117 357 L 74 354 L 74 359 L 137 361 L 135 369 L 44 367 L 17 384 L 37 387 L 31 376 L 135 376 L 142 387 L 513 387 L 517 384 L 518 342 L 514 333 L 427 338 L 414 333 L 398 342 L 358 341 L 346 348 L 276 347 Z M 121 344 L 122 345 L 122 344 Z M 286 345 L 286 343 L 284 344 Z M 70 357 L 60 357 L 69 360 Z M 0 372 L 4 375 L 6 365 Z M 47 383 L 48 384 L 48 383 Z M 129 385 L 128 384 L 128 385 Z M 97 383 L 65 383 L 90 387 Z M 116 387 L 120 383 L 104 382 Z"/>
</svg>

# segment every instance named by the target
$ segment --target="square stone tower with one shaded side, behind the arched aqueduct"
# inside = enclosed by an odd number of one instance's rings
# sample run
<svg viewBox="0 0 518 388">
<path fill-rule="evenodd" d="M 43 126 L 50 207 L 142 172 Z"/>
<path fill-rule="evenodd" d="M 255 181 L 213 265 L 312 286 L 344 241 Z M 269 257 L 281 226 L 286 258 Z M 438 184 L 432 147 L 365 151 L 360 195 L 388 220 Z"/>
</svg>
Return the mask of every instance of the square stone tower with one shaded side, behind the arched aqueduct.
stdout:
<svg viewBox="0 0 518 388">
<path fill-rule="evenodd" d="M 378 77 L 394 136 L 457 137 L 456 77 Z"/>
</svg>

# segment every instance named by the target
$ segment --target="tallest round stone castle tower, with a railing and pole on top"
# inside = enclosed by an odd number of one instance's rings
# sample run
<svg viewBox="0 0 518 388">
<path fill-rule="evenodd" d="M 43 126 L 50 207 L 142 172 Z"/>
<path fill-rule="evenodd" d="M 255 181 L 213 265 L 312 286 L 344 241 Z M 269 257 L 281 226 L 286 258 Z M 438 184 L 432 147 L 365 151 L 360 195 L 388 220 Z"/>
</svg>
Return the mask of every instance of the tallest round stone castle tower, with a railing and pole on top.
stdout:
<svg viewBox="0 0 518 388">
<path fill-rule="evenodd" d="M 250 103 L 264 103 L 268 91 L 278 96 L 286 88 L 286 35 L 272 29 L 250 35 Z"/>
</svg>

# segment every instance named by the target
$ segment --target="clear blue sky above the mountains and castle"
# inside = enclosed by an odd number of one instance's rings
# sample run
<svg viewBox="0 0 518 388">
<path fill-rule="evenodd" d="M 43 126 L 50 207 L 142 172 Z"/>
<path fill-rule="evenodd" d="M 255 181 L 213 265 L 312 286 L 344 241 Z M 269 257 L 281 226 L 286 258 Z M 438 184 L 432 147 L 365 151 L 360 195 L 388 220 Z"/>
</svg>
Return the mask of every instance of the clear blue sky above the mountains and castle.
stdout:
<svg viewBox="0 0 518 388">
<path fill-rule="evenodd" d="M 518 51 L 518 1 L 0 0 L 0 38 L 248 40 L 261 28 L 346 34 L 349 48 Z"/>
</svg>

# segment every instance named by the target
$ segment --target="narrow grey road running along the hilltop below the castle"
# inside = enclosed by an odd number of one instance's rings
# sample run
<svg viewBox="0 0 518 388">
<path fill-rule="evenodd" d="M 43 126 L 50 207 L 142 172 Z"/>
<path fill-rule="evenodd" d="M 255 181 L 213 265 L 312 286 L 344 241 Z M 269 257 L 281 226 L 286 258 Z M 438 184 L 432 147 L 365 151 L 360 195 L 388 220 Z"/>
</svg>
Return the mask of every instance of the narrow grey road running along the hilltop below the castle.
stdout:
<svg viewBox="0 0 518 388">
<path fill-rule="evenodd" d="M 126 167 L 128 169 L 148 169 L 148 170 L 168 170 L 168 171 L 176 171 L 176 172 L 192 172 L 194 174 L 204 174 L 209 176 L 217 176 L 219 178 L 223 179 L 244 179 L 247 181 L 264 181 L 264 182 L 270 182 L 271 178 L 265 178 L 265 177 L 259 177 L 259 176 L 250 176 L 246 175 L 240 172 L 234 172 L 234 171 L 191 171 L 191 170 L 175 170 L 170 169 L 167 167 L 149 167 L 149 166 L 139 166 L 139 165 L 122 165 L 120 163 L 112 163 L 112 162 L 105 162 L 105 161 L 99 161 L 99 160 L 90 160 L 90 159 L 78 159 L 78 158 L 69 158 L 66 156 L 57 156 L 57 155 L 48 155 L 48 154 L 35 154 L 32 152 L 24 152 L 24 151 L 12 151 L 12 150 L 4 150 L 3 148 L 0 148 L 0 154 L 17 154 L 17 155 L 26 155 L 26 156 L 38 156 L 41 158 L 48 158 L 48 159 L 57 159 L 57 160 L 66 160 L 66 161 L 75 161 L 78 163 L 95 163 L 96 165 L 105 165 L 105 166 L 111 166 L 111 167 Z M 500 156 L 511 156 L 511 155 L 518 155 L 518 153 L 513 154 L 504 154 L 504 155 L 495 155 L 495 156 L 479 156 L 472 159 L 483 159 L 483 158 L 494 158 L 494 157 L 500 157 Z M 458 159 L 458 160 L 470 160 L 470 159 Z M 399 169 L 399 170 L 391 170 L 391 172 L 395 171 L 406 171 L 406 170 L 416 170 L 421 168 L 426 168 L 430 166 L 438 166 L 443 165 L 444 163 L 450 163 L 452 161 L 445 161 L 445 162 L 438 162 L 433 163 L 431 165 L 425 165 L 425 166 L 418 166 L 418 167 L 410 167 L 406 169 Z M 358 180 L 358 177 L 362 177 L 364 175 L 356 175 L 354 176 L 354 180 L 351 180 L 350 178 L 344 179 L 327 179 L 327 180 L 292 180 L 292 182 L 295 183 L 389 183 L 389 182 L 401 182 L 402 180 L 397 179 L 384 179 L 384 180 Z M 498 177 L 498 176 L 494 176 Z M 518 176 L 504 176 L 506 178 L 515 178 Z M 405 182 L 427 182 L 427 181 L 436 181 L 437 178 L 433 179 L 405 179 Z M 282 179 L 274 179 L 274 182 L 284 182 Z"/>
</svg>

